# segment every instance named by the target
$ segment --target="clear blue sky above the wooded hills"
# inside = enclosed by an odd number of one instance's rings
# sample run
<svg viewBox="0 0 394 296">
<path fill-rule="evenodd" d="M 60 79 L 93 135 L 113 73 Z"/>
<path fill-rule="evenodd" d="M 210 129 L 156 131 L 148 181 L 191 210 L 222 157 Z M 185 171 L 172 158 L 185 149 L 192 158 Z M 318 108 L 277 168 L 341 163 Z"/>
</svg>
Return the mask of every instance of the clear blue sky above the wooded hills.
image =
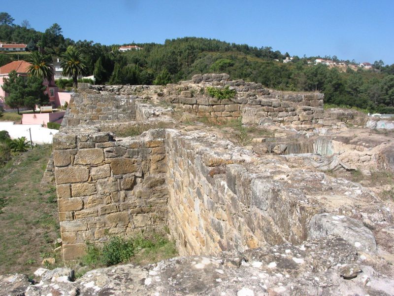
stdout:
<svg viewBox="0 0 394 296">
<path fill-rule="evenodd" d="M 271 46 L 394 64 L 394 0 L 0 0 L 15 24 L 58 23 L 73 40 L 164 43 L 177 37 Z"/>
</svg>

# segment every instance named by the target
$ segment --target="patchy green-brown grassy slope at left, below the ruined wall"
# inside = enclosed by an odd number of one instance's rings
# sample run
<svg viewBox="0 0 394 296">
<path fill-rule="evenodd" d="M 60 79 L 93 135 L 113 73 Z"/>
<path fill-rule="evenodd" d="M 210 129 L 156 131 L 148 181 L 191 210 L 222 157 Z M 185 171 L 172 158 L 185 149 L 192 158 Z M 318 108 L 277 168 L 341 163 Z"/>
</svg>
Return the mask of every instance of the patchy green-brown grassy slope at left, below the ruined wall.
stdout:
<svg viewBox="0 0 394 296">
<path fill-rule="evenodd" d="M 0 274 L 33 272 L 42 259 L 61 262 L 54 186 L 40 187 L 51 145 L 16 154 L 0 170 Z M 49 267 L 55 267 L 49 266 Z"/>
</svg>

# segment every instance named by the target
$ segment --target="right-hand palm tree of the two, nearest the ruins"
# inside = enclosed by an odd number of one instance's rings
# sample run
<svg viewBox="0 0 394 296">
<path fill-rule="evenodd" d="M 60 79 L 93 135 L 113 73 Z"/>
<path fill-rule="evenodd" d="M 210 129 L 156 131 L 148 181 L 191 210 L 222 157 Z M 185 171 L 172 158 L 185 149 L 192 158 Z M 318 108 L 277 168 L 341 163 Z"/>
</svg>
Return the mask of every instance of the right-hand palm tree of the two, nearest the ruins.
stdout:
<svg viewBox="0 0 394 296">
<path fill-rule="evenodd" d="M 63 68 L 62 75 L 72 78 L 74 88 L 78 87 L 78 76 L 84 74 L 86 61 L 84 55 L 74 46 L 68 46 L 62 56 L 60 66 Z"/>
</svg>

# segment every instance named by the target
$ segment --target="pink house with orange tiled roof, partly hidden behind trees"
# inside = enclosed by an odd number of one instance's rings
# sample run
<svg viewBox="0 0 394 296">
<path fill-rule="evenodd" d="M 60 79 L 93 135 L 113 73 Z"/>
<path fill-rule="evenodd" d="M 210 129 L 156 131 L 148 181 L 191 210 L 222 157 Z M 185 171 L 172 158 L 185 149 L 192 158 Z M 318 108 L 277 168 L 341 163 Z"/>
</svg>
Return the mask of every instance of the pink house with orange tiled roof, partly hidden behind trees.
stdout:
<svg viewBox="0 0 394 296">
<path fill-rule="evenodd" d="M 27 76 L 29 67 L 31 65 L 32 64 L 25 61 L 14 61 L 0 67 L 0 108 L 2 110 L 5 111 L 11 110 L 4 103 L 4 99 L 8 96 L 8 94 L 1 87 L 4 84 L 4 78 L 8 78 L 8 74 L 13 70 L 15 70 L 16 73 L 20 76 Z M 56 86 L 54 78 L 52 78 L 51 81 L 44 79 L 44 82 L 42 84 L 46 86 L 45 93 L 48 94 L 49 96 L 49 103 L 53 107 L 60 106 L 60 100 L 58 94 L 59 88 Z"/>
</svg>

